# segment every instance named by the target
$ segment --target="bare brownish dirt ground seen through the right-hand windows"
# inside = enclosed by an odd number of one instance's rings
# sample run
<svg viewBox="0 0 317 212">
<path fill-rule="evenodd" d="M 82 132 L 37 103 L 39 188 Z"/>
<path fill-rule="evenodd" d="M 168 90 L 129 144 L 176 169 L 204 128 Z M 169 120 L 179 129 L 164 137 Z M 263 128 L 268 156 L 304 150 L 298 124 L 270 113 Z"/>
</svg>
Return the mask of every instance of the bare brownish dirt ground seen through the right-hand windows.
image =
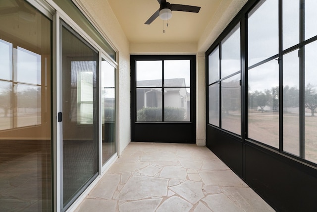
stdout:
<svg viewBox="0 0 317 212">
<path fill-rule="evenodd" d="M 279 116 L 274 112 L 249 112 L 249 138 L 279 148 Z M 240 134 L 240 114 L 222 115 L 222 128 Z M 299 115 L 283 116 L 283 149 L 299 156 Z M 317 116 L 305 117 L 305 159 L 317 163 Z"/>
</svg>

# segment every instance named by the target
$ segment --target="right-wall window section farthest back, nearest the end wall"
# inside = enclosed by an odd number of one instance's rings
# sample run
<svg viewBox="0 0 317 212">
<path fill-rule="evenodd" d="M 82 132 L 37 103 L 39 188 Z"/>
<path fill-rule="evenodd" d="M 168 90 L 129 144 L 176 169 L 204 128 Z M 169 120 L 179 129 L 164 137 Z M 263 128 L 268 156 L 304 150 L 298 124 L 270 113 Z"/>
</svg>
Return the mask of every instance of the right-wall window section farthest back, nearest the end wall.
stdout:
<svg viewBox="0 0 317 212">
<path fill-rule="evenodd" d="M 240 24 L 237 24 L 208 57 L 209 124 L 238 135 L 241 133 L 240 51 Z"/>
</svg>

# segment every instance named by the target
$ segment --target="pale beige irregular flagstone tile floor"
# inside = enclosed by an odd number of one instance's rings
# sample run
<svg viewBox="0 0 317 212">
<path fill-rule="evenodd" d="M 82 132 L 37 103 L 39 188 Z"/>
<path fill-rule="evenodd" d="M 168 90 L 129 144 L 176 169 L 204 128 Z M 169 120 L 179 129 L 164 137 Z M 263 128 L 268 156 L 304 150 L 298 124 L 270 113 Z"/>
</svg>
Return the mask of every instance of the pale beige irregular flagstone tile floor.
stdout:
<svg viewBox="0 0 317 212">
<path fill-rule="evenodd" d="M 205 146 L 131 142 L 75 211 L 274 210 Z"/>
</svg>

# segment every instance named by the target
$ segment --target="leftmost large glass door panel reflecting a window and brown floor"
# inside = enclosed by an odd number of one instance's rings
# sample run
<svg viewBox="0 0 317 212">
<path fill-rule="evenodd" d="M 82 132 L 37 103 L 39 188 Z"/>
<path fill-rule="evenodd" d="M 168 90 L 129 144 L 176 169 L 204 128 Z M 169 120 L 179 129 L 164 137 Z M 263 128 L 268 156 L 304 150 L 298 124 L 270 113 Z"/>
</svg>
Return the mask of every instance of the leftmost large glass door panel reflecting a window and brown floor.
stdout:
<svg viewBox="0 0 317 212">
<path fill-rule="evenodd" d="M 0 211 L 52 212 L 52 21 L 2 0 L 0 31 Z"/>
</svg>

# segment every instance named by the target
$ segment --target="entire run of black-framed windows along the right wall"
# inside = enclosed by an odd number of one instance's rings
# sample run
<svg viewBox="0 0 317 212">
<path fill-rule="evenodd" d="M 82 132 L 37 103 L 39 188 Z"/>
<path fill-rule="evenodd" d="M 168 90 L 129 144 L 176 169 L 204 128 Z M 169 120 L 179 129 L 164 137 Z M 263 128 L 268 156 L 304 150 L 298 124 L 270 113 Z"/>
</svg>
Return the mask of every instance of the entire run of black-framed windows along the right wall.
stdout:
<svg viewBox="0 0 317 212">
<path fill-rule="evenodd" d="M 242 39 L 239 25 L 217 39 L 206 54 L 210 126 L 239 135 L 242 106 L 243 141 L 317 163 L 316 8 L 261 0 L 245 11 Z"/>
</svg>

